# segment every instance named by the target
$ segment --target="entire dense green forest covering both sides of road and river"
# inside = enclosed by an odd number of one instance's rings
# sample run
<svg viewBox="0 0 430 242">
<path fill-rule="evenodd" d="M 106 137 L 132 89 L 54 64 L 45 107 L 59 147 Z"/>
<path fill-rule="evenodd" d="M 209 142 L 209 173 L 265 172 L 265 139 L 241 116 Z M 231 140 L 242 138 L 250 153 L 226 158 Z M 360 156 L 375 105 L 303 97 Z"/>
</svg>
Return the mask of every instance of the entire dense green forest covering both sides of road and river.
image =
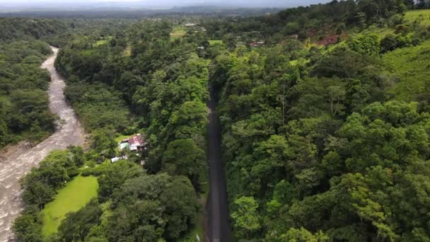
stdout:
<svg viewBox="0 0 430 242">
<path fill-rule="evenodd" d="M 335 0 L 264 16 L 13 27 L 0 45 L 0 146 L 54 129 L 37 69 L 45 35 L 61 46 L 55 67 L 89 134 L 88 147 L 54 151 L 23 178 L 18 240 L 194 241 L 210 86 L 237 241 L 429 241 L 426 8 Z M 137 133 L 147 149 L 117 149 Z M 96 178 L 97 195 L 47 234 L 44 209 L 81 176 Z"/>
</svg>

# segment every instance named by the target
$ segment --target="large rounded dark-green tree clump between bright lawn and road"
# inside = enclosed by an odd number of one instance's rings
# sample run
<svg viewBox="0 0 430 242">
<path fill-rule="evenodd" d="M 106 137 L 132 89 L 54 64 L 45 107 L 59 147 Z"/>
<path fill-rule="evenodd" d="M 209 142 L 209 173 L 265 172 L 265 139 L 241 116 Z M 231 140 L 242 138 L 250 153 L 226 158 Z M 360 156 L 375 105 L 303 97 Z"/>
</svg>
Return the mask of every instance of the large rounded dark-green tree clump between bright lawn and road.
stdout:
<svg viewBox="0 0 430 242">
<path fill-rule="evenodd" d="M 194 223 L 197 200 L 185 177 L 144 175 L 128 180 L 113 195 L 110 241 L 180 238 Z"/>
</svg>

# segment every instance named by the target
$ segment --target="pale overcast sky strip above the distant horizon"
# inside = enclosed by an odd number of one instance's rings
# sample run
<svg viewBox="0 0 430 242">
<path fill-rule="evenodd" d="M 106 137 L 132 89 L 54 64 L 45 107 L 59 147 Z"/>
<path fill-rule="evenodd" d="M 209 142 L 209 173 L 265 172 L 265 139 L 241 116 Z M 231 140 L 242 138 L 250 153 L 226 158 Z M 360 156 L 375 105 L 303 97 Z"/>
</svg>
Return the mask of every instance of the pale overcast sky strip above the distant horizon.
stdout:
<svg viewBox="0 0 430 242">
<path fill-rule="evenodd" d="M 327 0 L 0 0 L 1 7 L 33 6 L 122 6 L 122 7 L 173 7 L 192 5 L 291 7 L 318 4 Z"/>
</svg>

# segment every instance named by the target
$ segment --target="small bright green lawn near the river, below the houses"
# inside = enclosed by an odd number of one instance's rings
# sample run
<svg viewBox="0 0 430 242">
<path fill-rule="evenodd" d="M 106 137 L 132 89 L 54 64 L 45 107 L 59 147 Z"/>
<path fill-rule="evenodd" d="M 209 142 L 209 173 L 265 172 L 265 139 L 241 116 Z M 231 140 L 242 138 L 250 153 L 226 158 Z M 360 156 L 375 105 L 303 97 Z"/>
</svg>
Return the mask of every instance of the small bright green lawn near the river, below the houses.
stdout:
<svg viewBox="0 0 430 242">
<path fill-rule="evenodd" d="M 60 189 L 54 201 L 43 209 L 43 236 L 57 232 L 62 220 L 69 212 L 76 212 L 97 196 L 98 182 L 94 176 L 77 176 Z"/>
</svg>

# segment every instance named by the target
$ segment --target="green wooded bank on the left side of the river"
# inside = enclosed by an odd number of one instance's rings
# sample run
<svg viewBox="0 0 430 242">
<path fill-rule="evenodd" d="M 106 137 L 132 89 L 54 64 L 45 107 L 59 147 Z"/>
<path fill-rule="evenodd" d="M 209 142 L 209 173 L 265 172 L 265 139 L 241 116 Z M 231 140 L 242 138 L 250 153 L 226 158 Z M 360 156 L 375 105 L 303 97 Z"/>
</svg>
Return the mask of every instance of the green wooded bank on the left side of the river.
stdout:
<svg viewBox="0 0 430 242">
<path fill-rule="evenodd" d="M 50 78 L 39 68 L 50 53 L 41 41 L 0 42 L 0 148 L 21 139 L 37 143 L 54 131 Z"/>
</svg>

